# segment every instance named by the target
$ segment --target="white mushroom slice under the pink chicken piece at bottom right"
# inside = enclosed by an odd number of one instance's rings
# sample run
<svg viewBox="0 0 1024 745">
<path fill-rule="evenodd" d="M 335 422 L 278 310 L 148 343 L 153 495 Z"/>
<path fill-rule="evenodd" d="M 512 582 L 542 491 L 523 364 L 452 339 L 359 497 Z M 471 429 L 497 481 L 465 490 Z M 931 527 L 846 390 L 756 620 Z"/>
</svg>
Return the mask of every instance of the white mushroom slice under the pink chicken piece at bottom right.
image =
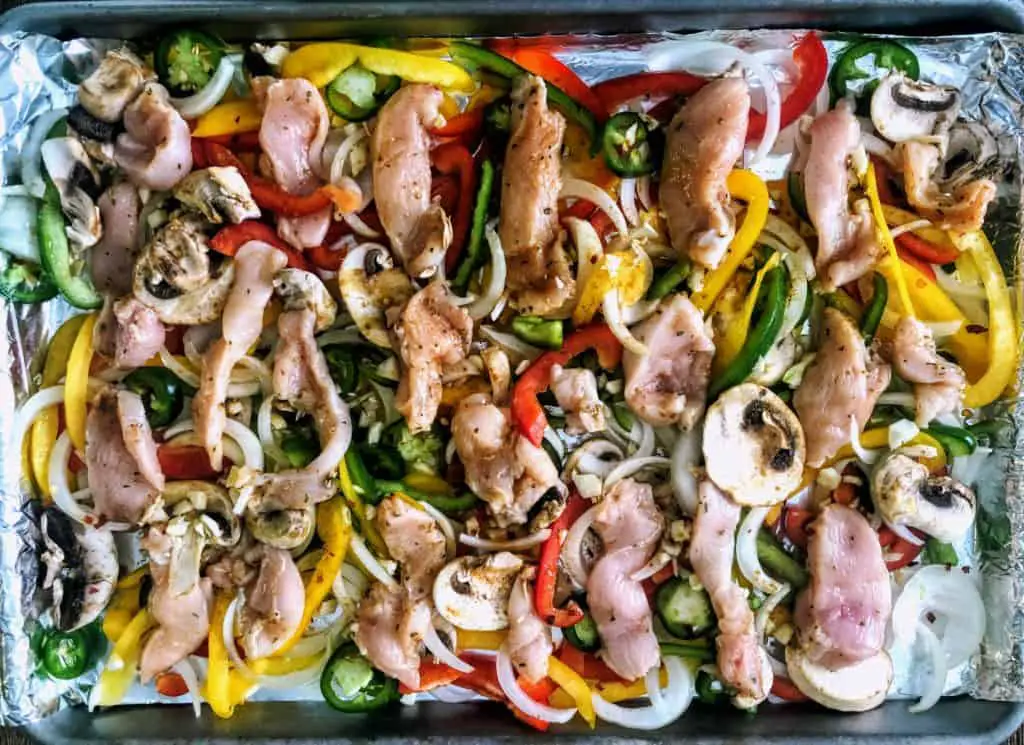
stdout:
<svg viewBox="0 0 1024 745">
<path fill-rule="evenodd" d="M 880 706 L 893 682 L 887 652 L 837 670 L 811 662 L 797 647 L 785 650 L 790 680 L 808 698 L 836 711 L 868 711 Z"/>
</svg>

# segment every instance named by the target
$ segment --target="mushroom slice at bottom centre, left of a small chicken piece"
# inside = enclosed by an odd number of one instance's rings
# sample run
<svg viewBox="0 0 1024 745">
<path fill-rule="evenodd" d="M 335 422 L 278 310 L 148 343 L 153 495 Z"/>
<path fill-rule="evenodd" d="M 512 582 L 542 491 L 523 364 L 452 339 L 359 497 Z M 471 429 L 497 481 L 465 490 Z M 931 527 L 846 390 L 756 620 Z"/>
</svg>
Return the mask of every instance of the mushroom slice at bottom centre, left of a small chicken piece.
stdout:
<svg viewBox="0 0 1024 745">
<path fill-rule="evenodd" d="M 505 551 L 456 559 L 434 580 L 434 607 L 458 628 L 507 628 L 509 595 L 520 569 L 522 559 Z"/>
</svg>

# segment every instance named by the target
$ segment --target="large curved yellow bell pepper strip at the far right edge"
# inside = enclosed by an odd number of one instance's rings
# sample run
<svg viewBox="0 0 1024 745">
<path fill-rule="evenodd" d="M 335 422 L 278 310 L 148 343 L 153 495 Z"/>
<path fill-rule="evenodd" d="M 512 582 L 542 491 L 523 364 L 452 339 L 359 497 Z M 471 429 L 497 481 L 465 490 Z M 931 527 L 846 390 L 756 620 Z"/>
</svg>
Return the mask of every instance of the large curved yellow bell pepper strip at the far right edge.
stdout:
<svg viewBox="0 0 1024 745">
<path fill-rule="evenodd" d="M 981 230 L 954 233 L 952 239 L 956 248 L 970 252 L 974 258 L 988 299 L 988 364 L 984 375 L 971 383 L 964 394 L 964 404 L 977 408 L 994 401 L 1014 382 L 1020 354 L 1017 320 L 999 260 L 985 233 Z"/>
</svg>

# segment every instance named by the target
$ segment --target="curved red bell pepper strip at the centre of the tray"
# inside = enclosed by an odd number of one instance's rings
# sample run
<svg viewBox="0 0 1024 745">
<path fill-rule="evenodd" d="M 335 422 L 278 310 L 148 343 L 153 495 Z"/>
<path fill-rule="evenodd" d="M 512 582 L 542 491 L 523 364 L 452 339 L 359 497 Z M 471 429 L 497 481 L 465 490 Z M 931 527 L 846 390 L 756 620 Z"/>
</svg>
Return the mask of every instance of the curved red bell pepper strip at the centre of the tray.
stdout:
<svg viewBox="0 0 1024 745">
<path fill-rule="evenodd" d="M 551 384 L 551 368 L 565 365 L 578 354 L 593 349 L 605 369 L 614 369 L 623 358 L 623 345 L 604 323 L 591 323 L 578 328 L 557 352 L 545 352 L 516 381 L 512 390 L 512 421 L 519 432 L 538 447 L 544 439 L 548 418 L 537 400 L 539 393 Z"/>
</svg>

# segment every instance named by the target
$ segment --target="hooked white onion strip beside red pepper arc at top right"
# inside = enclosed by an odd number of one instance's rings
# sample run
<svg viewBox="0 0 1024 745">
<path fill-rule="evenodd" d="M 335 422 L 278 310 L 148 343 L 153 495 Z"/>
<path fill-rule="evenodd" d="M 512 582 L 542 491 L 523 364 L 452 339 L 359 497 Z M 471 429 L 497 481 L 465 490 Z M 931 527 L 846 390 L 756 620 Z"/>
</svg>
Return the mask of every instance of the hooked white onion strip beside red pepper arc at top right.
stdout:
<svg viewBox="0 0 1024 745">
<path fill-rule="evenodd" d="M 761 83 L 765 96 L 765 131 L 761 142 L 754 149 L 748 166 L 760 163 L 775 146 L 781 121 L 782 98 L 778 83 L 768 67 L 754 54 L 730 44 L 716 41 L 672 42 L 657 44 L 654 53 L 647 58 L 649 70 L 668 72 L 672 70 L 693 70 L 694 61 L 705 64 L 720 62 L 718 72 L 724 72 L 733 62 L 748 70 Z M 721 64 L 723 63 L 724 64 Z"/>
</svg>

